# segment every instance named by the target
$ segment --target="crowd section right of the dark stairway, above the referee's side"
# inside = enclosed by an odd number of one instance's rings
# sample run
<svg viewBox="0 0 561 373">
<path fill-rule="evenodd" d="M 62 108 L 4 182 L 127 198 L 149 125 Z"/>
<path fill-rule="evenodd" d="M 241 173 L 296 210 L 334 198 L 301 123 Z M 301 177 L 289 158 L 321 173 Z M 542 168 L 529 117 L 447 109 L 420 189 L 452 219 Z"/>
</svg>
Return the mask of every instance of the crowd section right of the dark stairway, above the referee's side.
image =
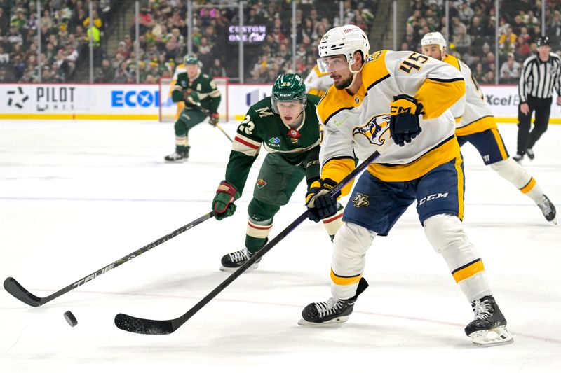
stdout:
<svg viewBox="0 0 561 373">
<path fill-rule="evenodd" d="M 546 1 L 546 35 L 553 40 L 552 52 L 561 54 L 561 0 Z M 499 3 L 499 50 L 495 50 L 496 9 L 494 0 L 449 1 L 449 27 L 445 23 L 445 1 L 412 0 L 412 13 L 405 24 L 401 50 L 420 51 L 427 32 L 448 35 L 448 52 L 470 66 L 483 84 L 495 83 L 499 55 L 499 83 L 518 83 L 522 64 L 536 52 L 541 36 L 541 1 L 501 0 Z"/>
</svg>

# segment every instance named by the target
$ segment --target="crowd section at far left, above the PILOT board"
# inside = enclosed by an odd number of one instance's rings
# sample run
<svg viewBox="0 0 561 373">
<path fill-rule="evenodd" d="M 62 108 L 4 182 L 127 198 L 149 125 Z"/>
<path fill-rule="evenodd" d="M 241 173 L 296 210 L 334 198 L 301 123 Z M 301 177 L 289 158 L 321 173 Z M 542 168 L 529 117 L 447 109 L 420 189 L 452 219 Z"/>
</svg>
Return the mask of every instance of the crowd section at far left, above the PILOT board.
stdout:
<svg viewBox="0 0 561 373">
<path fill-rule="evenodd" d="M 111 0 L 93 0 L 93 40 L 99 49 Z M 73 81 L 76 64 L 88 53 L 87 0 L 0 0 L 0 82 Z M 38 59 L 38 34 L 41 57 Z"/>
</svg>

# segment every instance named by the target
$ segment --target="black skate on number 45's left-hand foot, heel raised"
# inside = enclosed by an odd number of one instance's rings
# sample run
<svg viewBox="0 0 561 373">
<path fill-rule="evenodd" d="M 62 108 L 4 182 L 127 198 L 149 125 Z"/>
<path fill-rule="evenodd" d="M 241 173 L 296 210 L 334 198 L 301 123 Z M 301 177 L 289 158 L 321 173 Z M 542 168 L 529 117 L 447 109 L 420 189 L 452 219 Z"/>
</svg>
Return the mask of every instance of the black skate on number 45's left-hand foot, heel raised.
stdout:
<svg viewBox="0 0 561 373">
<path fill-rule="evenodd" d="M 368 287 L 364 278 L 358 282 L 356 294 L 348 300 L 330 298 L 327 302 L 310 303 L 302 310 L 302 319 L 298 325 L 318 325 L 344 323 L 349 320 L 349 315 L 353 313 L 353 307 L 358 299 L 358 295 Z"/>
</svg>

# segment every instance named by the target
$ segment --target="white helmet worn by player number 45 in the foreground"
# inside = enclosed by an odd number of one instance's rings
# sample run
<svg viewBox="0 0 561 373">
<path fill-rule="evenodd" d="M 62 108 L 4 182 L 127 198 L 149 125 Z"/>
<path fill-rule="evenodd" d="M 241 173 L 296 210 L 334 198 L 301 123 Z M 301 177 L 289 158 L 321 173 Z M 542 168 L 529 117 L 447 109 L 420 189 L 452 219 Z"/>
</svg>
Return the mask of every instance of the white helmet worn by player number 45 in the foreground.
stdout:
<svg viewBox="0 0 561 373">
<path fill-rule="evenodd" d="M 349 69 L 351 69 L 351 65 L 356 62 L 353 54 L 357 50 L 360 50 L 363 53 L 363 59 L 366 59 L 370 51 L 370 43 L 368 43 L 365 32 L 354 24 L 334 27 L 323 35 L 318 45 L 320 56 L 318 67 L 322 73 L 329 73 L 332 69 L 325 64 L 325 57 L 344 55 Z"/>
</svg>

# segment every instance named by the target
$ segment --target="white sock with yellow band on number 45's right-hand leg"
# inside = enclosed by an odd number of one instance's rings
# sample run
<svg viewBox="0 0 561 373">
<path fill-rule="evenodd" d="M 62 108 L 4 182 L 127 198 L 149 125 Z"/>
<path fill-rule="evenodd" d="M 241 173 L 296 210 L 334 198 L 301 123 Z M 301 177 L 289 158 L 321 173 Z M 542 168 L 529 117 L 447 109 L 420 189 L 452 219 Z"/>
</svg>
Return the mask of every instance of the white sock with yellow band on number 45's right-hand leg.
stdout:
<svg viewBox="0 0 561 373">
<path fill-rule="evenodd" d="M 468 301 L 491 295 L 481 257 L 468 240 L 459 218 L 444 214 L 431 216 L 425 220 L 424 227 L 428 241 L 442 255 Z"/>
</svg>

